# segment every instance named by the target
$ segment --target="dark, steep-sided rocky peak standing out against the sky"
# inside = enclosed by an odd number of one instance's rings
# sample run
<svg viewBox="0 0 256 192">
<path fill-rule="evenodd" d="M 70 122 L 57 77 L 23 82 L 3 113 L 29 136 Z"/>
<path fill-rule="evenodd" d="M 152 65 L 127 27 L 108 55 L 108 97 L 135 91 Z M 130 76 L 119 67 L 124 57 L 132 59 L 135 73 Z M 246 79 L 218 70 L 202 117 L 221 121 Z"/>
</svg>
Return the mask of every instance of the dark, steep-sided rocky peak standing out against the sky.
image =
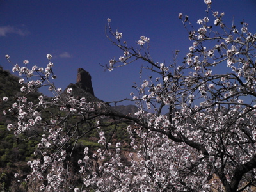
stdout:
<svg viewBox="0 0 256 192">
<path fill-rule="evenodd" d="M 83 68 L 78 68 L 77 70 L 76 85 L 94 96 L 92 88 L 92 77 L 90 76 L 89 72 Z"/>
</svg>

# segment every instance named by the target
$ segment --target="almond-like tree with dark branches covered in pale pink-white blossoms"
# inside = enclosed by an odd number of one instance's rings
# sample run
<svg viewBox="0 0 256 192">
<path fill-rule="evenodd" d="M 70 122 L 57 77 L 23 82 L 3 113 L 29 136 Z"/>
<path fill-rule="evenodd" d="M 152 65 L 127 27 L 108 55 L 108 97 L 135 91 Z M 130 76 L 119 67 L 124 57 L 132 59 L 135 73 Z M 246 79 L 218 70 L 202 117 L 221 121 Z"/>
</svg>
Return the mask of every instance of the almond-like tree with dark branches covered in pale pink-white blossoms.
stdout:
<svg viewBox="0 0 256 192">
<path fill-rule="evenodd" d="M 8 129 L 14 134 L 34 132 L 42 137 L 37 158 L 28 162 L 31 174 L 26 182 L 30 189 L 252 190 L 256 181 L 256 35 L 248 31 L 245 22 L 239 28 L 224 24 L 224 13 L 212 10 L 211 0 L 205 4 L 207 15 L 198 20 L 198 29 L 188 16 L 179 14 L 191 40 L 183 63 L 176 60 L 179 51 L 170 65 L 157 63 L 149 54 L 149 38 L 141 36 L 137 47 L 131 47 L 122 41 L 122 33 L 111 29 L 108 19 L 106 36 L 124 55 L 103 67 L 111 71 L 143 60 L 147 63 L 144 70 L 157 76 L 134 86 L 137 92 L 131 93 L 132 100 L 139 108 L 134 116 L 117 113 L 104 102 L 77 100 L 72 89 L 63 97 L 50 80 L 56 77 L 50 54 L 45 69 L 29 69 L 28 61 L 24 61 L 25 67 L 13 67 L 13 72 L 24 76 L 19 83 L 27 84 L 21 89 L 24 96 L 9 109 L 17 111 L 17 124 L 9 124 Z M 220 65 L 227 65 L 222 74 Z M 29 102 L 26 95 L 41 86 L 49 86 L 54 97 L 40 96 L 38 103 Z M 166 107 L 169 113 L 164 115 Z M 51 108 L 61 113 L 52 114 Z M 149 109 L 154 112 L 146 112 Z M 42 120 L 42 113 L 51 116 L 48 121 Z M 122 143 L 111 143 L 104 134 L 105 127 L 120 122 L 129 122 L 131 152 L 125 164 Z M 79 171 L 74 173 L 70 159 L 77 140 L 94 129 L 99 132 L 101 148 L 84 148 L 83 158 L 76 162 Z M 74 182 L 75 177 L 80 182 Z"/>
</svg>

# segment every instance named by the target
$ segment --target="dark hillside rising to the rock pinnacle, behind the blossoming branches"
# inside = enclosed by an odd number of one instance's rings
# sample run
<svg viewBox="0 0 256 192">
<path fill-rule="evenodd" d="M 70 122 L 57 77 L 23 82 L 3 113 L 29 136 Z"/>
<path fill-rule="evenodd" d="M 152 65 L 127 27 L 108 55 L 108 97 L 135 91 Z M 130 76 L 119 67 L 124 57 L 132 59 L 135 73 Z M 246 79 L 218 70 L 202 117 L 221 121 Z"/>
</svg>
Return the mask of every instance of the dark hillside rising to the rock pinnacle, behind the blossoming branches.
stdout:
<svg viewBox="0 0 256 192">
<path fill-rule="evenodd" d="M 77 74 L 77 83 L 70 83 L 67 88 L 73 89 L 72 93 L 77 99 L 85 97 L 88 101 L 103 102 L 95 97 L 93 93 L 90 74 L 88 72 L 83 72 L 83 69 L 81 68 L 79 69 L 79 72 Z M 82 74 L 86 74 L 87 79 L 84 79 L 84 77 L 81 76 L 81 72 L 83 72 Z M 36 159 L 33 152 L 36 150 L 36 145 L 40 142 L 40 135 L 42 135 L 43 132 L 42 130 L 38 130 L 38 136 L 33 137 L 28 137 L 29 132 L 15 136 L 12 131 L 8 131 L 6 128 L 8 124 L 17 123 L 14 113 L 7 113 L 7 115 L 4 115 L 3 111 L 8 111 L 13 102 L 15 102 L 15 99 L 22 96 L 22 93 L 20 92 L 22 85 L 19 84 L 19 79 L 20 78 L 18 76 L 13 75 L 9 71 L 0 67 L 0 188 L 4 191 L 27 190 L 26 185 L 15 184 L 15 178 L 13 175 L 18 172 L 20 173 L 21 177 L 23 177 L 22 175 L 27 175 L 30 172 L 26 162 Z M 81 81 L 81 79 L 84 81 Z M 88 81 L 88 79 L 90 81 Z M 89 88 L 87 86 L 89 86 Z M 63 98 L 67 96 L 65 95 L 67 88 L 61 94 Z M 88 92 L 88 90 L 90 92 Z M 28 95 L 28 100 L 36 103 L 38 102 L 38 97 L 40 95 L 42 95 L 42 93 L 36 90 L 33 94 Z M 3 97 L 8 97 L 8 101 L 3 102 Z M 47 99 L 51 100 L 51 98 Z M 109 106 L 109 108 L 123 113 L 124 115 L 132 115 L 137 110 L 136 106 L 132 105 L 115 107 Z M 58 113 L 58 109 L 51 108 L 51 113 Z M 47 117 L 46 114 L 42 114 L 42 119 L 44 119 L 45 122 L 47 122 L 48 118 L 49 117 Z M 68 124 L 71 125 L 72 121 L 68 122 Z M 127 148 L 129 147 L 127 143 L 130 141 L 126 133 L 126 127 L 127 124 L 122 123 L 118 124 L 118 127 L 111 125 L 104 128 L 106 138 L 108 140 L 124 143 L 123 150 L 129 150 L 129 148 Z M 115 134 L 113 134 L 113 132 L 115 132 Z M 77 162 L 77 159 L 81 158 L 84 147 L 89 147 L 91 150 L 97 150 L 100 147 L 97 140 L 99 140 L 99 132 L 97 132 L 95 129 L 89 132 L 87 136 L 80 138 L 77 141 L 77 147 L 74 148 L 76 151 L 76 156 L 71 159 L 71 161 Z"/>
</svg>

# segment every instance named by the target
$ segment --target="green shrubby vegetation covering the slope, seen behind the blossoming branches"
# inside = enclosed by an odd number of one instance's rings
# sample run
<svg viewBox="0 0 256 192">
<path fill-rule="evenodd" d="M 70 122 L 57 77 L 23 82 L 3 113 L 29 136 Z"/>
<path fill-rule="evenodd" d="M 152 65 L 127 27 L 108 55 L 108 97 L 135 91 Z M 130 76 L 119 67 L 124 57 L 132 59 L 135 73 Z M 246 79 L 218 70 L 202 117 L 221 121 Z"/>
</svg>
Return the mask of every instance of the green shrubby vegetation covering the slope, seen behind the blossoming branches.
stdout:
<svg viewBox="0 0 256 192">
<path fill-rule="evenodd" d="M 19 134 L 18 136 L 15 136 L 13 131 L 8 131 L 7 125 L 17 124 L 17 119 L 15 119 L 14 113 L 3 115 L 3 110 L 8 111 L 10 106 L 12 106 L 17 99 L 16 97 L 22 96 L 20 94 L 22 85 L 20 85 L 18 81 L 19 77 L 3 70 L 0 66 L 0 191 L 26 191 L 28 189 L 25 183 L 17 182 L 17 180 L 24 179 L 24 175 L 28 175 L 28 173 L 31 172 L 27 162 L 33 161 L 33 159 L 39 157 L 35 156 L 33 153 L 37 149 L 37 144 L 40 143 L 40 136 L 42 136 L 42 134 L 49 134 L 49 132 L 45 132 L 41 128 L 36 130 L 38 133 L 37 137 L 35 137 L 35 135 L 31 137 L 33 134 L 29 131 L 24 134 Z M 35 90 L 35 93 L 29 94 L 28 100 L 37 103 L 39 95 L 42 95 L 42 93 Z M 8 101 L 3 102 L 3 97 L 8 97 Z M 46 99 L 51 100 L 51 98 Z M 65 111 L 60 111 L 58 107 L 51 106 L 47 111 L 42 112 L 42 121 L 49 123 L 52 116 L 65 116 Z M 70 127 L 76 125 L 77 118 L 80 117 L 74 116 L 66 122 L 67 129 L 72 130 Z M 72 172 L 79 171 L 77 161 L 83 159 L 84 147 L 90 148 L 91 154 L 97 149 L 102 148 L 102 145 L 98 143 L 100 131 L 104 131 L 107 143 L 113 144 L 110 146 L 110 149 L 115 150 L 115 143 L 119 142 L 122 143 L 122 150 L 130 150 L 129 136 L 126 131 L 127 124 L 115 124 L 115 122 L 104 119 L 106 127 L 92 129 L 92 126 L 94 127 L 95 124 L 96 122 L 83 122 L 80 124 L 80 134 L 84 132 L 87 133 L 77 140 L 76 147 L 73 148 L 76 140 L 70 140 L 70 143 L 66 145 L 67 152 L 73 150 L 74 154 L 74 156 L 69 159 Z M 92 130 L 90 131 L 90 129 Z M 70 134 L 72 134 L 72 131 Z M 78 133 L 76 134 L 78 136 Z M 15 173 L 19 173 L 19 177 L 15 178 Z"/>
</svg>

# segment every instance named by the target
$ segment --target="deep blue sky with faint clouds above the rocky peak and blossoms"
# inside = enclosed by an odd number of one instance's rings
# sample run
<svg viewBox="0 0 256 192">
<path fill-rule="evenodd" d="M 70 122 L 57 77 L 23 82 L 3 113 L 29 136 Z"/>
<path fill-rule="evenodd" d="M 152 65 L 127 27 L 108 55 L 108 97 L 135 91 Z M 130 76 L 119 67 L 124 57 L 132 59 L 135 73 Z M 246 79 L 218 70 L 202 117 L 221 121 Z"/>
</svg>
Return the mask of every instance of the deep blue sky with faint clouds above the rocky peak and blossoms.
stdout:
<svg viewBox="0 0 256 192">
<path fill-rule="evenodd" d="M 225 24 L 231 26 L 233 17 L 237 25 L 244 19 L 249 23 L 249 31 L 256 33 L 255 0 L 212 0 L 211 7 L 225 12 Z M 31 67 L 45 68 L 49 53 L 53 56 L 53 69 L 58 77 L 54 82 L 58 88 L 76 83 L 77 68 L 81 67 L 90 72 L 99 99 L 130 98 L 133 82 L 140 81 L 143 61 L 104 72 L 99 64 L 122 56 L 105 36 L 107 19 L 111 18 L 112 28 L 122 32 L 129 45 L 136 47 L 141 35 L 150 38 L 155 62 L 170 63 L 176 49 L 182 51 L 179 57 L 182 62 L 192 42 L 177 16 L 180 12 L 189 15 L 197 28 L 196 21 L 205 16 L 206 8 L 204 0 L 0 0 L 0 65 L 12 69 L 4 58 L 9 54 L 13 63 L 22 65 L 23 60 L 28 60 Z"/>
</svg>

